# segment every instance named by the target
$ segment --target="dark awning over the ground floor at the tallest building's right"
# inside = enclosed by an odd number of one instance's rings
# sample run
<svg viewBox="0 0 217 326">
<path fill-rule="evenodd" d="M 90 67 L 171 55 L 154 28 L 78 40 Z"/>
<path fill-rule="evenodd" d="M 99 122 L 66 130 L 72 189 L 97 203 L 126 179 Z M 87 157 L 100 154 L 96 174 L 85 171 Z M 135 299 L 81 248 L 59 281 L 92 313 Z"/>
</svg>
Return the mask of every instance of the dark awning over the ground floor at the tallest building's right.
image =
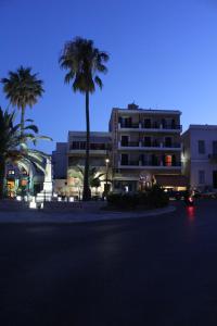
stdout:
<svg viewBox="0 0 217 326">
<path fill-rule="evenodd" d="M 165 187 L 187 187 L 188 178 L 184 175 L 155 175 L 158 185 Z"/>
</svg>

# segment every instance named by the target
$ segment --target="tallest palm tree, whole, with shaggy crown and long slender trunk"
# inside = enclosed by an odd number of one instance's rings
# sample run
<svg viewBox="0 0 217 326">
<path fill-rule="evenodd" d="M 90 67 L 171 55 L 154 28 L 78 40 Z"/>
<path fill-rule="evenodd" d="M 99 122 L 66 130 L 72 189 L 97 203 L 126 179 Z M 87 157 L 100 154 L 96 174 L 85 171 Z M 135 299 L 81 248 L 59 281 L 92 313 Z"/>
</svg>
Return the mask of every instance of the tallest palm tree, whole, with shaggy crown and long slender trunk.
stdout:
<svg viewBox="0 0 217 326">
<path fill-rule="evenodd" d="M 84 177 L 82 200 L 90 199 L 89 188 L 89 148 L 90 148 L 90 118 L 89 95 L 94 92 L 95 85 L 102 88 L 103 84 L 98 73 L 106 73 L 104 63 L 108 60 L 105 52 L 94 48 L 93 41 L 76 37 L 65 43 L 60 57 L 60 65 L 67 71 L 65 83 L 73 84 L 73 90 L 79 91 L 86 97 L 86 162 Z"/>
</svg>

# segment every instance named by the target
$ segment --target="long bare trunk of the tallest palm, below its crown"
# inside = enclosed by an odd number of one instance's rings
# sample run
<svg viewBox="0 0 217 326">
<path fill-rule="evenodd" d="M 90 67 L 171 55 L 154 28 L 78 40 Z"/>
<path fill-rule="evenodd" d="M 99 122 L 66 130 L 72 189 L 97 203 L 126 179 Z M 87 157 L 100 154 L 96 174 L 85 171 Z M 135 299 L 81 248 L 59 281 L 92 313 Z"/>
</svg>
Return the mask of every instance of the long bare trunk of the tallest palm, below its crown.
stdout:
<svg viewBox="0 0 217 326">
<path fill-rule="evenodd" d="M 89 188 L 89 150 L 90 150 L 90 117 L 89 117 L 89 91 L 86 92 L 86 159 L 85 159 L 85 177 L 82 200 L 90 200 Z"/>
</svg>

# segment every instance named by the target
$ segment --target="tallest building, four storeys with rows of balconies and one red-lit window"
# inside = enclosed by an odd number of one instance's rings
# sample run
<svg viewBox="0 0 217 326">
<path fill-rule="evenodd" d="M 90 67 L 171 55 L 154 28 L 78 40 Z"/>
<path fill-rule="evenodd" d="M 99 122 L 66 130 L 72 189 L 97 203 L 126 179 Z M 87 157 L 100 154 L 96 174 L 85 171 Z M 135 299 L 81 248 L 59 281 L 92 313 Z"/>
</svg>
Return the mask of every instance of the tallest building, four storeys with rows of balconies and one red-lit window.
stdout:
<svg viewBox="0 0 217 326">
<path fill-rule="evenodd" d="M 112 110 L 114 189 L 137 190 L 158 183 L 186 186 L 181 176 L 180 111 L 144 110 L 136 104 Z"/>
</svg>

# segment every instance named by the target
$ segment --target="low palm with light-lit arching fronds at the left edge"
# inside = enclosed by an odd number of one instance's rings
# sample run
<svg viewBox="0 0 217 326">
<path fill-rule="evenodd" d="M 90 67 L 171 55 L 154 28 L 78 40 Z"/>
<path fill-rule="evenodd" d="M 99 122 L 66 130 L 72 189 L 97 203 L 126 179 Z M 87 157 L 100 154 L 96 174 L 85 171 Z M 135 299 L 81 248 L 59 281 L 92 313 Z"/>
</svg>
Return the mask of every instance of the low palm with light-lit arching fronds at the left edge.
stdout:
<svg viewBox="0 0 217 326">
<path fill-rule="evenodd" d="M 0 199 L 4 192 L 4 176 L 8 163 L 26 170 L 33 164 L 44 172 L 44 159 L 48 156 L 41 151 L 29 149 L 27 142 L 33 141 L 35 143 L 41 137 L 48 139 L 49 137 L 37 136 L 38 128 L 33 124 L 24 127 L 21 135 L 21 124 L 14 125 L 14 112 L 3 112 L 0 108 Z"/>
</svg>

